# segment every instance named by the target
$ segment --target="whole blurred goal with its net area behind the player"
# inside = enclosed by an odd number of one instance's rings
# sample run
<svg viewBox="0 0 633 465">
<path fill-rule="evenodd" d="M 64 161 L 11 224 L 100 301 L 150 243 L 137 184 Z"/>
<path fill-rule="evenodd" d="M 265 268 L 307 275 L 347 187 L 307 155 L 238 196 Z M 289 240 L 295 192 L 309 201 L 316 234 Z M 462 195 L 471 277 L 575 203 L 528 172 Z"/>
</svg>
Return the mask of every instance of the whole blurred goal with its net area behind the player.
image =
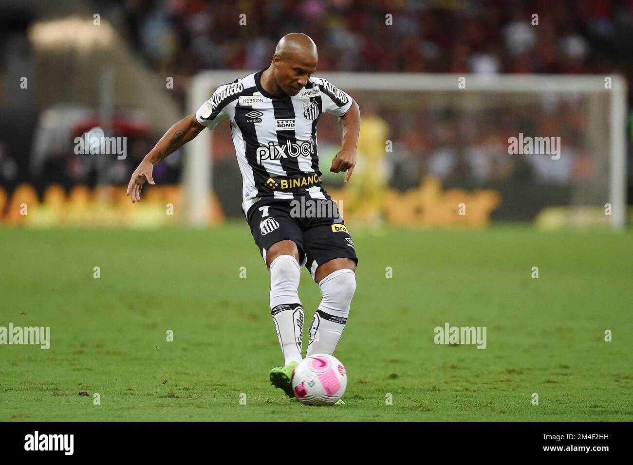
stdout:
<svg viewBox="0 0 633 465">
<path fill-rule="evenodd" d="M 198 73 L 188 112 L 248 73 Z M 347 199 L 346 211 L 360 211 L 365 199 L 379 196 L 384 218 L 396 224 L 442 225 L 456 214 L 468 218 L 470 205 L 484 223 L 625 225 L 627 89 L 619 75 L 318 75 L 361 108 L 359 174 L 354 170 L 352 179 L 365 183 L 360 187 L 368 195 L 346 195 L 353 182 L 343 189 L 342 175 L 329 173 L 341 135 L 334 116 L 318 123 L 323 182 L 333 199 L 332 192 Z M 241 216 L 229 123 L 205 130 L 185 154 L 187 223 L 213 221 L 212 201 L 226 216 Z M 382 174 L 370 175 L 376 172 Z M 491 194 L 487 201 L 482 192 Z M 448 216 L 438 213 L 443 204 Z"/>
</svg>

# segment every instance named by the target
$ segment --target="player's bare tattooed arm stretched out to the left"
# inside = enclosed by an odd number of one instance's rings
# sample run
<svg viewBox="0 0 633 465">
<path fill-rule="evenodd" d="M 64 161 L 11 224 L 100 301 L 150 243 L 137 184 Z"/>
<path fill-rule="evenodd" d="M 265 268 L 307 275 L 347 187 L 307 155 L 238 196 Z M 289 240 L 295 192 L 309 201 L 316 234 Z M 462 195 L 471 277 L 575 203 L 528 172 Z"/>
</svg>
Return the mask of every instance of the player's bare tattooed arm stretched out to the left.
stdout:
<svg viewBox="0 0 633 465">
<path fill-rule="evenodd" d="M 170 127 L 156 146 L 141 161 L 139 167 L 132 173 L 132 178 L 127 186 L 127 194 L 125 195 L 132 195 L 132 202 L 140 201 L 141 186 L 146 181 L 154 184 L 154 178 L 152 177 L 154 164 L 180 149 L 189 140 L 194 139 L 203 129 L 204 126 L 198 123 L 195 113 L 185 116 L 185 118 Z"/>
</svg>

